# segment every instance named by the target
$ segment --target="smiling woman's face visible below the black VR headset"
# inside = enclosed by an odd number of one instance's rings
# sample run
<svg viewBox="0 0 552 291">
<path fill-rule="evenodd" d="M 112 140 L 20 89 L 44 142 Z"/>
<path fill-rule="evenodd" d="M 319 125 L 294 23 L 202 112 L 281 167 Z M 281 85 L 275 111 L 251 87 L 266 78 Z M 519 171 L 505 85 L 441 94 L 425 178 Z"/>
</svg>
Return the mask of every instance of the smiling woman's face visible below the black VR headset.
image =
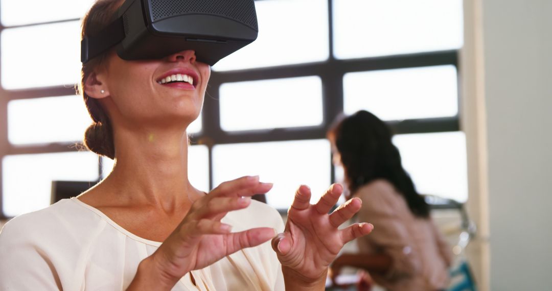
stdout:
<svg viewBox="0 0 552 291">
<path fill-rule="evenodd" d="M 98 80 L 112 101 L 104 106 L 115 125 L 187 127 L 201 111 L 210 74 L 192 50 L 146 61 L 125 61 L 112 53 Z"/>
</svg>

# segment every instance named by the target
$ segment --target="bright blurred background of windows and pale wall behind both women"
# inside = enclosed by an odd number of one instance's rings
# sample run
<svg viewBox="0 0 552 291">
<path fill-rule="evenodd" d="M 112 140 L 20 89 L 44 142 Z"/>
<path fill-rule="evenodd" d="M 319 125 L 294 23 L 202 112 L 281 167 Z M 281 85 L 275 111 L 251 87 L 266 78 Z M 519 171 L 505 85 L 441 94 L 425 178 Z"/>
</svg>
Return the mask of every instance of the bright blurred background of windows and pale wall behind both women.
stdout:
<svg viewBox="0 0 552 291">
<path fill-rule="evenodd" d="M 74 88 L 79 18 L 92 2 L 0 0 L 4 221 L 49 206 L 52 181 L 92 185 L 113 166 L 79 150 L 91 123 Z M 213 67 L 189 130 L 195 187 L 258 174 L 274 182 L 267 203 L 282 213 L 300 184 L 316 201 L 343 179 L 326 130 L 368 110 L 394 130 L 418 192 L 468 209 L 477 232 L 461 255 L 480 290 L 550 289 L 551 1 L 258 0 L 256 9 L 257 41 Z M 454 245 L 461 215 L 436 217 Z"/>
</svg>

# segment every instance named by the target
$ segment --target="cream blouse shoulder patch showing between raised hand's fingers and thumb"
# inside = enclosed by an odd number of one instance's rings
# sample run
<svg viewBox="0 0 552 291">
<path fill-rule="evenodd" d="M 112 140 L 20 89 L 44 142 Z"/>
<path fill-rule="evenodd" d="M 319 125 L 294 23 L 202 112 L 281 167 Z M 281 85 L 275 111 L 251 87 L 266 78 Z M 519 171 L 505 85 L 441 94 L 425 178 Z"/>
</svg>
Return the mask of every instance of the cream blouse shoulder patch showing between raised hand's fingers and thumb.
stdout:
<svg viewBox="0 0 552 291">
<path fill-rule="evenodd" d="M 272 206 L 256 200 L 245 209 L 229 212 L 223 221 L 232 225 L 234 231 L 258 227 L 270 227 L 279 232 L 284 229 L 282 215 Z"/>
</svg>

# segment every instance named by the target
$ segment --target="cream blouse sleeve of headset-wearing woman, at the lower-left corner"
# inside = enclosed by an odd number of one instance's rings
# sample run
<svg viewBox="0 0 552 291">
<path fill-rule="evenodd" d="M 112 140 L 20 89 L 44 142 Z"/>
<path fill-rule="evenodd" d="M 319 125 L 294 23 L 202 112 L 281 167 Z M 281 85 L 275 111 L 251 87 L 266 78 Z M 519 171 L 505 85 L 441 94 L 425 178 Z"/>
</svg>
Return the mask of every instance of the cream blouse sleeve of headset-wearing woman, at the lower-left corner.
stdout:
<svg viewBox="0 0 552 291">
<path fill-rule="evenodd" d="M 61 290 L 52 262 L 17 220 L 0 231 L 0 290 Z"/>
</svg>

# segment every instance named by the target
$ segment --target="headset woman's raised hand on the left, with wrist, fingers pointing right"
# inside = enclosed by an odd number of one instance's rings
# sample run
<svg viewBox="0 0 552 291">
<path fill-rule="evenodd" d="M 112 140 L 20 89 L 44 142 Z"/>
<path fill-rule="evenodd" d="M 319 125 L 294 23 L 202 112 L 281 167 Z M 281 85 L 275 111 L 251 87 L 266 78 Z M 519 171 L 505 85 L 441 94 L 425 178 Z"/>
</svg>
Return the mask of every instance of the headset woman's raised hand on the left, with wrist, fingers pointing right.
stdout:
<svg viewBox="0 0 552 291">
<path fill-rule="evenodd" d="M 230 233 L 231 226 L 220 221 L 226 213 L 249 206 L 250 196 L 266 193 L 270 188 L 272 184 L 259 182 L 258 176 L 242 177 L 222 183 L 209 195 L 195 201 L 182 223 L 154 254 L 140 263 L 137 277 L 142 277 L 135 278 L 132 283 L 170 290 L 189 271 L 207 267 L 233 252 L 273 238 L 272 228 Z M 150 274 L 144 277 L 144 273 Z M 135 282 L 140 280 L 141 283 Z M 129 289 L 134 288 L 133 284 Z"/>
</svg>

